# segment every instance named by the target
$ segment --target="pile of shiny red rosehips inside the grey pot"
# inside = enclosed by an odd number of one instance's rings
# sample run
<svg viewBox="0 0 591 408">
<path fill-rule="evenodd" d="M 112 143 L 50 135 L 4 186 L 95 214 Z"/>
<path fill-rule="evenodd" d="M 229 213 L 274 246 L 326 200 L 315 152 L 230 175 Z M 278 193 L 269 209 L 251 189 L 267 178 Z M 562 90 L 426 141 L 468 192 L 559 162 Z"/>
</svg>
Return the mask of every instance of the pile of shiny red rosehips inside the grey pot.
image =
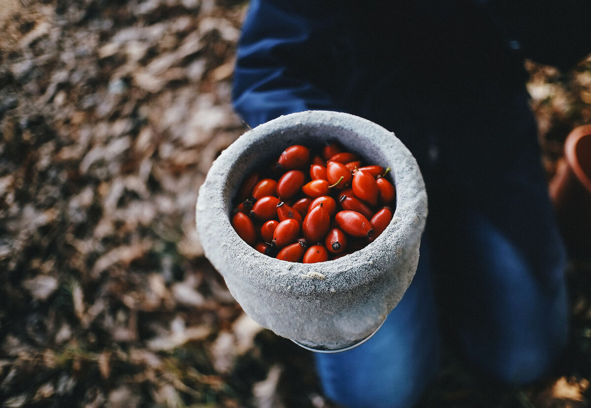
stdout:
<svg viewBox="0 0 591 408">
<path fill-rule="evenodd" d="M 365 247 L 388 226 L 396 199 L 389 170 L 365 165 L 336 143 L 317 154 L 292 145 L 270 169 L 243 181 L 232 226 L 271 257 L 334 260 Z"/>
</svg>

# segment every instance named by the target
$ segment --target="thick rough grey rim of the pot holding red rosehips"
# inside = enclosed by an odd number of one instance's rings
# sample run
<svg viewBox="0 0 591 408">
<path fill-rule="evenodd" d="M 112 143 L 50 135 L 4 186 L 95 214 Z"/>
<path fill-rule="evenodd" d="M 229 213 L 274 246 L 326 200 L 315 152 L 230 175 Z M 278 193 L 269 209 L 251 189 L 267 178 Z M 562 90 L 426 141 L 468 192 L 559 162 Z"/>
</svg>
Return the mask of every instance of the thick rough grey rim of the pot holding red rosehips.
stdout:
<svg viewBox="0 0 591 408">
<path fill-rule="evenodd" d="M 224 198 L 224 194 L 228 190 L 226 185 L 228 174 L 232 174 L 230 173 L 232 167 L 239 160 L 239 157 L 245 154 L 246 150 L 252 149 L 254 142 L 273 137 L 277 132 L 289 132 L 301 126 L 330 126 L 355 132 L 364 139 L 364 142 L 374 145 L 376 150 L 384 151 L 386 149 L 385 151 L 392 153 L 393 156 L 400 160 L 397 165 L 391 166 L 399 203 L 394 213 L 396 221 L 391 222 L 387 229 L 365 248 L 337 260 L 316 264 L 277 260 L 250 247 L 238 237 L 238 234 L 232 228 L 228 215 L 228 201 L 231 201 L 231 197 L 229 200 Z M 363 154 L 363 152 L 360 153 Z M 210 174 L 215 176 L 210 177 Z M 220 175 L 225 175 L 225 178 L 220 179 Z M 408 185 L 405 185 L 405 183 L 408 183 Z M 210 198 L 213 197 L 213 203 L 203 202 L 205 200 L 203 193 L 206 190 L 213 194 L 213 196 L 209 196 Z M 400 205 L 400 203 L 403 204 Z M 210 208 L 207 205 L 210 205 Z M 392 132 L 368 119 L 355 115 L 332 111 L 306 111 L 280 116 L 259 125 L 243 134 L 223 151 L 213 163 L 207 174 L 206 182 L 203 183 L 200 189 L 196 212 L 200 237 L 207 236 L 207 238 L 211 238 L 206 241 L 202 239 L 204 252 L 223 276 L 226 277 L 224 270 L 228 269 L 227 264 L 234 263 L 235 258 L 239 257 L 242 258 L 242 261 L 247 260 L 254 266 L 252 270 L 232 270 L 232 279 L 244 281 L 245 284 L 248 282 L 248 285 L 258 289 L 281 292 L 285 296 L 314 297 L 322 293 L 351 292 L 356 287 L 371 284 L 382 274 L 389 273 L 393 264 L 407 256 L 404 253 L 390 251 L 392 247 L 414 247 L 414 241 L 420 241 L 427 216 L 427 196 L 416 160 Z M 200 212 L 203 212 L 203 218 L 200 216 Z M 411 215 L 414 215 L 414 219 L 410 219 Z M 212 225 L 212 221 L 216 222 L 221 233 L 216 234 L 215 237 L 206 235 L 207 226 L 201 226 L 200 219 L 204 220 L 203 224 Z M 415 232 L 417 229 L 420 229 L 419 234 L 408 234 L 409 231 Z M 216 254 L 221 252 L 212 250 L 216 245 L 228 248 L 228 251 L 231 251 L 233 256 L 230 257 L 225 254 L 223 255 L 224 259 L 220 259 L 222 256 Z M 209 254 L 213 254 L 213 256 L 210 257 Z M 325 270 L 329 264 L 331 265 L 330 270 L 339 271 L 340 276 L 338 279 L 331 279 L 332 276 L 329 275 L 317 276 L 317 273 Z M 365 268 L 364 273 L 360 276 L 359 270 L 363 264 L 371 265 L 371 267 Z M 275 272 L 259 273 L 261 270 Z"/>
</svg>

